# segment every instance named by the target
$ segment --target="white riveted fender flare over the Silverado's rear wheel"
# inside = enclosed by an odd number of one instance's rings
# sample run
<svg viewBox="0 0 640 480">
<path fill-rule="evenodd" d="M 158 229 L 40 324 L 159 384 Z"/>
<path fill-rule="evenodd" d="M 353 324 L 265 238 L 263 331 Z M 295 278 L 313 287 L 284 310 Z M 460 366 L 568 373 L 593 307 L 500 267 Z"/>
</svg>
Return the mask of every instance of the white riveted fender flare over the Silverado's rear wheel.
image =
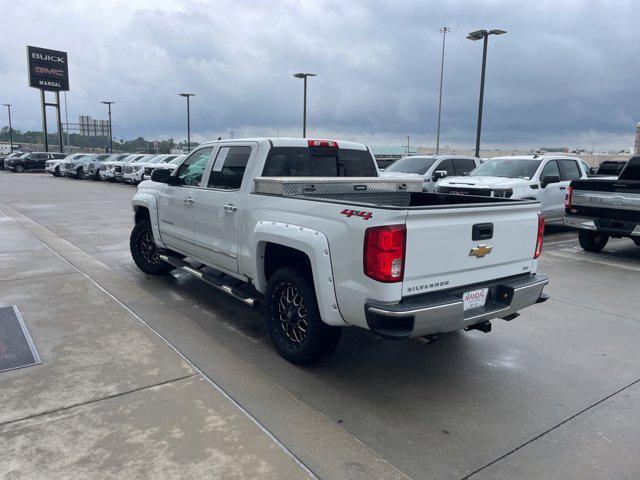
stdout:
<svg viewBox="0 0 640 480">
<path fill-rule="evenodd" d="M 324 233 L 290 223 L 259 221 L 253 231 L 251 252 L 254 259 L 254 283 L 259 292 L 266 290 L 264 252 L 267 243 L 294 248 L 309 257 L 320 317 L 328 325 L 343 326 L 338 308 L 331 267 L 329 241 Z"/>
</svg>

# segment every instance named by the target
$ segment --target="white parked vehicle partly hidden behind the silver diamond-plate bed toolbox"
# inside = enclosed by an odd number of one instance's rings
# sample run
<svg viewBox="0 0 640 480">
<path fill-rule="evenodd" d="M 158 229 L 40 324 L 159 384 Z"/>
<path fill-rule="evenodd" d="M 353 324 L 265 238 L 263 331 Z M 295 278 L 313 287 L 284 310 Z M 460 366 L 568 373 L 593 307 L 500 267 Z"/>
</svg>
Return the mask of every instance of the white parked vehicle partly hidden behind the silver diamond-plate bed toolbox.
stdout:
<svg viewBox="0 0 640 480">
<path fill-rule="evenodd" d="M 383 177 L 415 174 L 422 177 L 422 190 L 434 192 L 438 180 L 445 177 L 465 176 L 480 165 L 480 159 L 451 155 L 416 155 L 403 157 L 391 164 Z"/>
</svg>

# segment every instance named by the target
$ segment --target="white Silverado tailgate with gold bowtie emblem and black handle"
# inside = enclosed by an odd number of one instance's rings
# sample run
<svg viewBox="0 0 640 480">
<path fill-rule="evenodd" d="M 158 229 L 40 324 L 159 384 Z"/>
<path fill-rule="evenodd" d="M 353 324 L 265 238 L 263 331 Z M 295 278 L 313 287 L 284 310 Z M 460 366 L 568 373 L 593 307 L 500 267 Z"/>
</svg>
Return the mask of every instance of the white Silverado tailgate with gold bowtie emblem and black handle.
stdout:
<svg viewBox="0 0 640 480">
<path fill-rule="evenodd" d="M 409 209 L 402 295 L 534 270 L 538 210 L 537 203 Z"/>
</svg>

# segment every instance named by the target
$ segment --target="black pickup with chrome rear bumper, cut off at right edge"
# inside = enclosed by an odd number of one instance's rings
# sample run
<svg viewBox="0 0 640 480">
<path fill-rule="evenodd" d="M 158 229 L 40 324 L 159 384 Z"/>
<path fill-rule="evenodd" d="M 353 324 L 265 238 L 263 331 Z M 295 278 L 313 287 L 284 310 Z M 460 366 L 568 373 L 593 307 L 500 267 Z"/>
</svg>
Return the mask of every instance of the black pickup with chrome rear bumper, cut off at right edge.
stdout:
<svg viewBox="0 0 640 480">
<path fill-rule="evenodd" d="M 618 178 L 571 182 L 564 223 L 580 230 L 580 246 L 589 252 L 601 252 L 610 237 L 640 246 L 640 156 L 631 158 Z"/>
</svg>

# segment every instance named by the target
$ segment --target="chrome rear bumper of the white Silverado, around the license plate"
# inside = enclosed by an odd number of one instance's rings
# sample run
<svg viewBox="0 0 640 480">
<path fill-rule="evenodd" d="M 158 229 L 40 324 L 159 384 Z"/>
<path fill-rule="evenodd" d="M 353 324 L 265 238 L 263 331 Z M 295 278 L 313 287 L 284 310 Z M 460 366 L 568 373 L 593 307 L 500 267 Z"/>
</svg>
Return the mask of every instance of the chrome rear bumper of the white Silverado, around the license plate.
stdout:
<svg viewBox="0 0 640 480">
<path fill-rule="evenodd" d="M 398 340 L 460 330 L 545 301 L 548 297 L 542 289 L 548 283 L 549 279 L 542 275 L 524 275 L 408 297 L 393 305 L 368 303 L 367 325 L 382 337 Z M 486 305 L 465 311 L 462 295 L 480 288 L 489 288 Z"/>
</svg>

